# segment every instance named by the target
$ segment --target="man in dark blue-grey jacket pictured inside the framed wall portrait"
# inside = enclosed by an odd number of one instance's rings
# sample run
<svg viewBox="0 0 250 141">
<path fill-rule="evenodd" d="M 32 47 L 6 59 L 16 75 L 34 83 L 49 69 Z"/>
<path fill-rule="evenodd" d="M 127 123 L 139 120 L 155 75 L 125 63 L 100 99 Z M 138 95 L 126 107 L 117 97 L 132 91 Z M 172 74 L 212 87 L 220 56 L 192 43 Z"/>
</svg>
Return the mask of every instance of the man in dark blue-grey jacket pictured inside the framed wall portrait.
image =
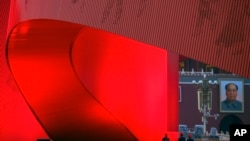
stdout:
<svg viewBox="0 0 250 141">
<path fill-rule="evenodd" d="M 226 99 L 221 102 L 221 109 L 223 111 L 241 111 L 242 102 L 237 100 L 238 86 L 234 83 L 225 85 Z"/>
</svg>

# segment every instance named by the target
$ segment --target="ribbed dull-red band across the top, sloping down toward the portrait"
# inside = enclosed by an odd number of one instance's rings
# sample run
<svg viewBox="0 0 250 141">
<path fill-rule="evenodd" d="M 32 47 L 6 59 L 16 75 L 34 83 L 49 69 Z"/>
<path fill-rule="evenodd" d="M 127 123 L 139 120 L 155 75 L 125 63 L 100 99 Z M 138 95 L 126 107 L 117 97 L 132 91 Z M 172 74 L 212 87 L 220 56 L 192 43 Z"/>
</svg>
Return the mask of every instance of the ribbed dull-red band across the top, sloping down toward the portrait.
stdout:
<svg viewBox="0 0 250 141">
<path fill-rule="evenodd" d="M 17 0 L 16 7 L 20 21 L 80 23 L 250 76 L 249 0 Z"/>
</svg>

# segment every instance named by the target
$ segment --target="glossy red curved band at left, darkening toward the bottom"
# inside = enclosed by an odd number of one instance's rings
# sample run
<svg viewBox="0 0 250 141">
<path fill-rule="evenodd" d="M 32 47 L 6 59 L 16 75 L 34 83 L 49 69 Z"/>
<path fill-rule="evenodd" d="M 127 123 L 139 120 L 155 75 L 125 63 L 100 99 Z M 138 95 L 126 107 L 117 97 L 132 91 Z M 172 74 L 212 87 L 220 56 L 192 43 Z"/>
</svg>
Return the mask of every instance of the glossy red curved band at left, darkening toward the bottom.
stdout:
<svg viewBox="0 0 250 141">
<path fill-rule="evenodd" d="M 53 20 L 18 24 L 8 40 L 8 62 L 31 110 L 53 140 L 136 138 L 82 86 L 70 50 L 82 25 Z"/>
</svg>

